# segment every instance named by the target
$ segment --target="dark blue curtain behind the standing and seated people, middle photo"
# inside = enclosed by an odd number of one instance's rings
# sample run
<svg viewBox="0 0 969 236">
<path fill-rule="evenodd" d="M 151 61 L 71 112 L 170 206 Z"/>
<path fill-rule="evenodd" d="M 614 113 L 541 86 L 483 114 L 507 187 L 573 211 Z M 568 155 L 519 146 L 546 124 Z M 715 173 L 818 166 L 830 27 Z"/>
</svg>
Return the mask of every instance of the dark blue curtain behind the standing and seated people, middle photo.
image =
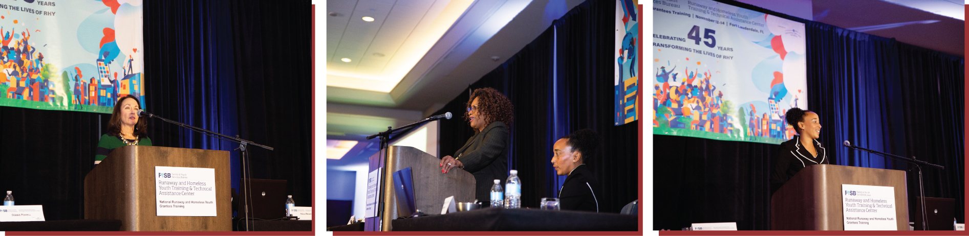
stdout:
<svg viewBox="0 0 969 236">
<path fill-rule="evenodd" d="M 508 167 L 522 180 L 523 207 L 536 208 L 542 197 L 558 196 L 565 177 L 552 168 L 552 144 L 584 128 L 604 138 L 589 164 L 603 188 L 597 195 L 601 211 L 618 213 L 639 195 L 638 124 L 614 126 L 612 120 L 614 4 L 580 4 L 470 85 L 495 88 L 515 104 Z M 462 92 L 435 114 L 464 114 L 468 96 Z M 474 134 L 461 121 L 441 122 L 441 131 L 442 156 L 453 155 Z"/>
</svg>

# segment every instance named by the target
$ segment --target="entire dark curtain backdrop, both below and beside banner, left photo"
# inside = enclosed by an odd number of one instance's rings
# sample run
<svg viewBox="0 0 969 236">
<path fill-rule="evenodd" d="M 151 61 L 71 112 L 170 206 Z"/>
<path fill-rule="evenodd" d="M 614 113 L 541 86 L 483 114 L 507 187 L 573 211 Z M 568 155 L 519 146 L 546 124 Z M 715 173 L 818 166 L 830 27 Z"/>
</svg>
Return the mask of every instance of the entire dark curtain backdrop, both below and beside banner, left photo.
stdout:
<svg viewBox="0 0 969 236">
<path fill-rule="evenodd" d="M 147 111 L 276 148 L 250 146 L 253 177 L 287 180 L 297 206 L 310 206 L 312 118 L 298 111 L 308 110 L 312 91 L 291 86 L 311 83 L 310 2 L 142 6 L 151 19 L 144 21 L 144 73 L 158 74 L 144 85 Z M 18 205 L 44 205 L 47 221 L 82 219 L 83 179 L 109 117 L 0 106 L 0 190 L 14 191 Z M 148 126 L 156 146 L 230 151 L 237 164 L 237 144 L 162 121 Z"/>
</svg>

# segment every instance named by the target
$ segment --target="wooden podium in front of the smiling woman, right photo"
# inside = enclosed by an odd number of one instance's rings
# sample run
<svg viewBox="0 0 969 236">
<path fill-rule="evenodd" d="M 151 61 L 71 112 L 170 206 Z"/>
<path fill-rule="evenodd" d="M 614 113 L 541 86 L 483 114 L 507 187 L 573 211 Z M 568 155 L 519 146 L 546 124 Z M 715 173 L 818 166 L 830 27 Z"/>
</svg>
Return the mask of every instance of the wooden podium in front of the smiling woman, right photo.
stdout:
<svg viewBox="0 0 969 236">
<path fill-rule="evenodd" d="M 905 171 L 813 164 L 770 199 L 771 230 L 844 230 L 841 185 L 894 187 L 897 230 L 908 230 Z"/>
</svg>

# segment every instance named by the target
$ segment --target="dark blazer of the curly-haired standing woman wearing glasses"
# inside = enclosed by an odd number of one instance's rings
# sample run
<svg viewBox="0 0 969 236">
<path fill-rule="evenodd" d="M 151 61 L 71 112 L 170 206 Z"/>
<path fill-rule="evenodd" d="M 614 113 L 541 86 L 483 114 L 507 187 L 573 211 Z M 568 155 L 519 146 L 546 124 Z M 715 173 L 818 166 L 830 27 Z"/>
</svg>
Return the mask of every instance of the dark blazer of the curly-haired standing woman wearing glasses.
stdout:
<svg viewBox="0 0 969 236">
<path fill-rule="evenodd" d="M 504 122 L 491 122 L 484 131 L 471 136 L 452 156 L 464 164 L 464 170 L 475 176 L 475 197 L 478 201 L 491 200 L 494 180 L 501 180 L 501 188 L 505 189 L 505 180 L 508 179 L 508 135 L 508 126 Z"/>
</svg>

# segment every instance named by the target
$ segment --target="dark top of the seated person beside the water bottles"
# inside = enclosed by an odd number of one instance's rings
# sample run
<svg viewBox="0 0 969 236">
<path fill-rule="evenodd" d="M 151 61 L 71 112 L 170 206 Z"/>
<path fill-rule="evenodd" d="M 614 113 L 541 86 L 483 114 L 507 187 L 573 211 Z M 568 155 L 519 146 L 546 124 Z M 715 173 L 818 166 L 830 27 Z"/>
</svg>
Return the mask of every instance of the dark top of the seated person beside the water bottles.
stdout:
<svg viewBox="0 0 969 236">
<path fill-rule="evenodd" d="M 585 164 L 569 173 L 558 190 L 558 204 L 562 210 L 602 212 L 599 197 L 602 197 L 599 181 Z"/>
</svg>

